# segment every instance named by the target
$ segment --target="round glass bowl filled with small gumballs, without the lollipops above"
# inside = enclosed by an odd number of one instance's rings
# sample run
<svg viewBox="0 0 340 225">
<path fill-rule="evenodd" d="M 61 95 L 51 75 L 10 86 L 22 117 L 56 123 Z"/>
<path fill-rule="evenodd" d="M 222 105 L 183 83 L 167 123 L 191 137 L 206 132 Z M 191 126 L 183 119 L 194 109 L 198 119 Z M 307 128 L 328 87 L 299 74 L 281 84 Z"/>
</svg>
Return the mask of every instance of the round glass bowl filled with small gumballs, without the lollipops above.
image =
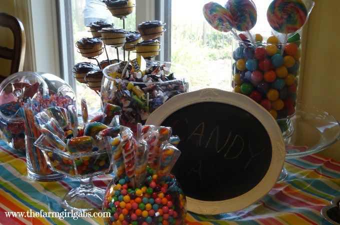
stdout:
<svg viewBox="0 0 340 225">
<path fill-rule="evenodd" d="M 176 178 L 169 174 L 165 183 L 155 180 L 150 175 L 134 189 L 127 176 L 113 178 L 102 204 L 102 211 L 110 212 L 105 224 L 183 224 L 186 199 Z"/>
</svg>

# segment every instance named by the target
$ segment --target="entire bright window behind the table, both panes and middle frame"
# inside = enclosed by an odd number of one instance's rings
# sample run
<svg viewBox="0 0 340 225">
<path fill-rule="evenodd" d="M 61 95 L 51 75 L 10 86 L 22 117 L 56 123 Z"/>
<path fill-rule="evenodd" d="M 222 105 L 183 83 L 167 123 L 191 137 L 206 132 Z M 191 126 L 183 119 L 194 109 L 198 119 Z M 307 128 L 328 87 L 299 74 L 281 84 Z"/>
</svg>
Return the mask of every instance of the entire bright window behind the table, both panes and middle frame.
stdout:
<svg viewBox="0 0 340 225">
<path fill-rule="evenodd" d="M 136 0 L 133 1 L 136 2 Z M 205 21 L 202 15 L 202 6 L 209 1 L 138 0 L 134 12 L 125 19 L 125 29 L 135 30 L 136 24 L 145 20 L 159 19 L 165 21 L 167 31 L 161 37 L 161 52 L 156 59 L 170 60 L 185 67 L 191 81 L 191 90 L 205 87 L 230 90 L 232 36 L 230 33 L 222 33 L 213 29 Z M 225 0 L 215 1 L 221 5 L 225 4 Z M 264 38 L 270 35 L 271 30 L 265 16 L 270 1 L 254 0 L 259 16 L 251 32 L 253 34 L 261 33 Z M 70 53 L 68 57 L 71 57 L 71 59 L 68 62 L 64 60 L 64 63 L 68 63 L 68 74 L 70 75 L 70 69 L 75 63 L 89 61 L 76 52 L 75 41 L 84 36 L 91 36 L 91 34 L 87 32 L 88 27 L 84 24 L 85 0 L 59 0 L 59 2 L 60 11 L 63 7 L 65 18 L 67 19 L 68 16 L 71 24 L 70 30 L 72 30 L 68 40 L 71 43 L 74 56 Z M 60 14 L 62 15 L 62 13 Z M 107 9 L 100 11 L 99 14 L 106 16 L 109 21 L 114 23 L 115 27 L 122 28 L 122 20 L 113 17 Z M 64 22 L 66 23 L 66 21 Z M 106 49 L 110 59 L 116 58 L 114 48 L 106 46 Z M 119 49 L 119 53 L 119 59 L 122 59 L 121 49 Z M 134 53 L 132 53 L 130 59 L 134 56 Z M 98 60 L 104 59 L 106 59 L 106 54 L 102 53 Z M 70 64 L 70 62 L 72 63 Z M 73 86 L 76 89 L 79 101 L 81 97 L 85 97 L 88 102 L 91 102 L 89 104 L 91 109 L 99 108 L 100 98 L 93 90 L 87 88 L 85 84 L 76 82 L 73 77 L 68 77 L 68 80 L 74 82 Z"/>
</svg>

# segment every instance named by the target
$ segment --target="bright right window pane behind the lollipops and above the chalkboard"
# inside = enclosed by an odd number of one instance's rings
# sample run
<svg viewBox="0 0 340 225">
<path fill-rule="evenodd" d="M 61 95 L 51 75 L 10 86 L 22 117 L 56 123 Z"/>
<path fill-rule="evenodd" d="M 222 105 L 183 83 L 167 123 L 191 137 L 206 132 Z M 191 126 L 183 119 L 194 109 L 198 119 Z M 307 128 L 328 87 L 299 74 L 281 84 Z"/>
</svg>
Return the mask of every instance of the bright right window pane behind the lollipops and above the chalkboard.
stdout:
<svg viewBox="0 0 340 225">
<path fill-rule="evenodd" d="M 215 30 L 204 19 L 202 7 L 209 1 L 171 1 L 171 61 L 188 69 L 191 90 L 205 87 L 230 90 L 232 36 Z M 222 6 L 226 2 L 214 1 Z M 270 35 L 266 20 L 270 1 L 254 0 L 258 18 L 251 30 L 253 34 Z"/>
</svg>

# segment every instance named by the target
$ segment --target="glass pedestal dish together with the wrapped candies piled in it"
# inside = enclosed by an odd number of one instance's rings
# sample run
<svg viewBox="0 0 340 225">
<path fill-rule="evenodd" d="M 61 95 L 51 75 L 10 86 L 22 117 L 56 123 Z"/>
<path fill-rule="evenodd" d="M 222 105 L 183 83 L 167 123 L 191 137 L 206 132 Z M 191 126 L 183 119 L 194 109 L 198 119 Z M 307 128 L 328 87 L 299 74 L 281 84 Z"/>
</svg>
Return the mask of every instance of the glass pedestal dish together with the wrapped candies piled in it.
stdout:
<svg viewBox="0 0 340 225">
<path fill-rule="evenodd" d="M 74 105 L 67 109 L 59 108 L 52 116 L 44 111 L 36 114 L 34 121 L 42 134 L 34 145 L 41 149 L 52 170 L 80 179 L 80 185 L 64 196 L 62 207 L 68 210 L 90 211 L 100 208 L 104 194 L 103 189 L 93 185 L 92 177 L 112 171 L 112 154 L 107 150 L 102 138 L 106 135 L 117 136 L 120 126 L 117 116 L 112 119 L 112 123 L 109 122 L 113 125 L 108 126 L 102 123 L 107 118 L 106 114 L 87 120 L 84 99 L 81 100 L 81 105 L 83 128 L 78 128 Z"/>
</svg>

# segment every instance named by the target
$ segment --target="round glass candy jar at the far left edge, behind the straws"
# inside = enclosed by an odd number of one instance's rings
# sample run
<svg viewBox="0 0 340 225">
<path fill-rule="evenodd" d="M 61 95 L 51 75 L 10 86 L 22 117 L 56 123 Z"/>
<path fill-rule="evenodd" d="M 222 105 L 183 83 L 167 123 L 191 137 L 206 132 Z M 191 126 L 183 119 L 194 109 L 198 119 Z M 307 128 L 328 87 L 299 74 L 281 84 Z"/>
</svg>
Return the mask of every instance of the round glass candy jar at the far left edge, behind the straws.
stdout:
<svg viewBox="0 0 340 225">
<path fill-rule="evenodd" d="M 1 139 L 15 150 L 25 152 L 24 121 L 18 110 L 23 102 L 35 94 L 48 93 L 47 84 L 34 72 L 17 72 L 0 84 Z"/>
</svg>

